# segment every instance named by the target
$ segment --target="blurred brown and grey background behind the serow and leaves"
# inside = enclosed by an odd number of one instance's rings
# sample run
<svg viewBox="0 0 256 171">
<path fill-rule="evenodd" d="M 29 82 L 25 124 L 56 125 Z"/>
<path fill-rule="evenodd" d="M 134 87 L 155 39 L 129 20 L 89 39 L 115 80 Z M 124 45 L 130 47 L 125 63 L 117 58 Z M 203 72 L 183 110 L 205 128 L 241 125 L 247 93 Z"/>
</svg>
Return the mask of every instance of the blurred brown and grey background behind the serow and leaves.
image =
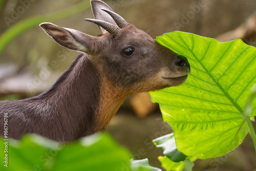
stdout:
<svg viewBox="0 0 256 171">
<path fill-rule="evenodd" d="M 228 41 L 241 38 L 256 46 L 255 0 L 106 0 L 127 22 L 153 38 L 175 30 Z M 85 22 L 93 18 L 90 1 L 0 0 L 0 99 L 24 99 L 47 90 L 79 54 L 57 45 L 39 28 L 52 22 L 97 35 L 98 27 Z M 51 63 L 57 62 L 52 67 Z M 42 74 L 47 73 L 47 74 Z M 255 126 L 255 123 L 254 123 Z M 127 99 L 108 130 L 130 149 L 135 159 L 148 158 L 161 167 L 163 156 L 151 140 L 172 132 L 162 120 L 157 104 L 147 93 Z M 249 136 L 226 156 L 197 160 L 193 170 L 253 170 L 256 155 Z"/>
</svg>

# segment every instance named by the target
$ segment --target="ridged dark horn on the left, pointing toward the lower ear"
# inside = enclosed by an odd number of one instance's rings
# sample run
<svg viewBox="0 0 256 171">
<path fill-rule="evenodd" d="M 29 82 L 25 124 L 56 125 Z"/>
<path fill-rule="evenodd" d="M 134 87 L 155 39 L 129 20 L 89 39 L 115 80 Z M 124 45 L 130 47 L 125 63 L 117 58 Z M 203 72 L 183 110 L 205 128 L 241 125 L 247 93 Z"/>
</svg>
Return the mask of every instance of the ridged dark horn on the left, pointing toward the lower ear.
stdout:
<svg viewBox="0 0 256 171">
<path fill-rule="evenodd" d="M 115 37 L 119 32 L 120 32 L 120 28 L 111 24 L 111 23 L 108 23 L 108 22 L 104 22 L 102 20 L 99 20 L 99 19 L 90 19 L 90 18 L 86 18 L 84 19 L 88 22 L 92 22 L 100 27 L 102 27 L 103 29 L 105 29 L 106 31 L 108 31 L 113 37 Z"/>
</svg>

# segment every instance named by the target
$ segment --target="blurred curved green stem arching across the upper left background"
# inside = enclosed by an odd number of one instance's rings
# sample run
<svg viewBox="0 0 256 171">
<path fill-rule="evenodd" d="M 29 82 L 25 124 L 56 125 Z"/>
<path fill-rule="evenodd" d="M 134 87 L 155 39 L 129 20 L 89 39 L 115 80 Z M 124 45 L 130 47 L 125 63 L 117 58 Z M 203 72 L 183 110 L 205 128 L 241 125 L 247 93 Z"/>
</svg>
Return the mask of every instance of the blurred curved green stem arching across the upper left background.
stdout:
<svg viewBox="0 0 256 171">
<path fill-rule="evenodd" d="M 84 0 L 74 6 L 71 6 L 61 11 L 57 11 L 51 14 L 33 16 L 20 21 L 19 23 L 13 25 L 8 30 L 6 30 L 2 35 L 0 35 L 0 54 L 3 52 L 3 50 L 11 40 L 25 32 L 26 30 L 38 26 L 40 23 L 53 22 L 59 19 L 67 18 L 90 8 L 90 6 L 90 1 Z"/>
</svg>

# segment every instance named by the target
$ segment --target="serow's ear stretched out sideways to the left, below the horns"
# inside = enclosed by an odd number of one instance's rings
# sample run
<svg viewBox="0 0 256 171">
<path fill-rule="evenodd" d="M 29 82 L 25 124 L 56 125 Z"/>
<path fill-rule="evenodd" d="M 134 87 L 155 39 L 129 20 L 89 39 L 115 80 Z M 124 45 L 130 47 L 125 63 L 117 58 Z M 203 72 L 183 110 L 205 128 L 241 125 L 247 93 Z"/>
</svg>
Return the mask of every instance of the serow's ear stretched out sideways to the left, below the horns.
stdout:
<svg viewBox="0 0 256 171">
<path fill-rule="evenodd" d="M 90 42 L 95 39 L 93 36 L 74 29 L 62 28 L 52 23 L 42 23 L 39 26 L 63 47 L 87 54 L 92 51 Z"/>
</svg>

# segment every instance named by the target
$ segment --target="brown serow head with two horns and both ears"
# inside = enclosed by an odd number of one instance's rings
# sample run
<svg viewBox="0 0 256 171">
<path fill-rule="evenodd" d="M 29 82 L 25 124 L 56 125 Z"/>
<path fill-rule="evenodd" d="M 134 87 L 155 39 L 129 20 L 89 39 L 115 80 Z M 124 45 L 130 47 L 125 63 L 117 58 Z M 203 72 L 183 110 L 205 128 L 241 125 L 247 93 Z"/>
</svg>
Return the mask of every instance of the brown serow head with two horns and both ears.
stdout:
<svg viewBox="0 0 256 171">
<path fill-rule="evenodd" d="M 190 72 L 186 57 L 158 44 L 150 35 L 127 23 L 98 0 L 91 0 L 95 19 L 102 31 L 91 36 L 77 30 L 42 23 L 58 44 L 85 53 L 100 75 L 111 83 L 134 92 L 179 86 Z"/>
</svg>

